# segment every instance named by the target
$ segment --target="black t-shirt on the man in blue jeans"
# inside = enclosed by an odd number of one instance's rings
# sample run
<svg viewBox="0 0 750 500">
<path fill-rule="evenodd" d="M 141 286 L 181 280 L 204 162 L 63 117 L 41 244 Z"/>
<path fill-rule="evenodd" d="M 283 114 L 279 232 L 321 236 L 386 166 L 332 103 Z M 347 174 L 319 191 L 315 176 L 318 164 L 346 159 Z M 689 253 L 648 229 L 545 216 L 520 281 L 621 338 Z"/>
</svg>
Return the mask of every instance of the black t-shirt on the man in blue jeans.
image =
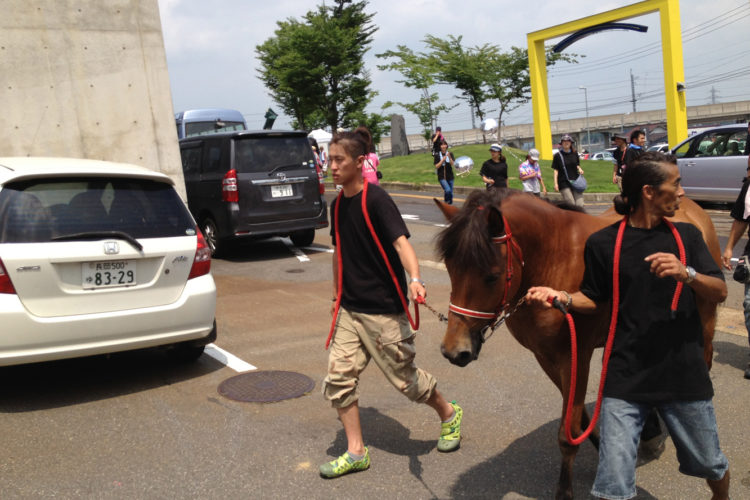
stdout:
<svg viewBox="0 0 750 500">
<path fill-rule="evenodd" d="M 612 263 L 620 222 L 586 241 L 581 292 L 597 303 L 611 302 Z M 724 279 L 692 224 L 675 223 L 687 264 Z M 670 306 L 677 285 L 657 278 L 644 258 L 655 252 L 679 255 L 677 242 L 662 223 L 653 229 L 628 226 L 620 254 L 620 304 L 604 395 L 644 403 L 710 399 L 713 386 L 703 359 L 703 328 L 693 289 L 682 288 L 677 316 Z"/>
</svg>

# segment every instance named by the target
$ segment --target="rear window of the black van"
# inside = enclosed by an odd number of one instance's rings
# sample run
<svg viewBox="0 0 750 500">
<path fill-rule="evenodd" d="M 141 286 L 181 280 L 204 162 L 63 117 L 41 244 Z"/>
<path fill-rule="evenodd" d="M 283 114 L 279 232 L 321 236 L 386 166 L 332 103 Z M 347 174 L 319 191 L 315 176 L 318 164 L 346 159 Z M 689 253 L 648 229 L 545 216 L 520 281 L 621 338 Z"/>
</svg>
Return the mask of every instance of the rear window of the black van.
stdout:
<svg viewBox="0 0 750 500">
<path fill-rule="evenodd" d="M 243 137 L 234 141 L 234 168 L 238 172 L 270 172 L 292 166 L 314 168 L 305 136 Z"/>
</svg>

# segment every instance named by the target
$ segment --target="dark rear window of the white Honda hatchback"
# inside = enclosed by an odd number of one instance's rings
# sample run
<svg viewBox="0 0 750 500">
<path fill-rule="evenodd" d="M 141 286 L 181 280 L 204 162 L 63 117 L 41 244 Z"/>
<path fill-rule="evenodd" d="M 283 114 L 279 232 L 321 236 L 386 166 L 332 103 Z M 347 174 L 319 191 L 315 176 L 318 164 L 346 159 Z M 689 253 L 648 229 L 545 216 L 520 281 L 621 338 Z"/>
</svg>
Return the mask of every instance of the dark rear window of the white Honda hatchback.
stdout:
<svg viewBox="0 0 750 500">
<path fill-rule="evenodd" d="M 41 243 L 97 231 L 186 236 L 195 234 L 195 223 L 172 186 L 146 179 L 38 179 L 0 191 L 0 243 Z"/>
</svg>

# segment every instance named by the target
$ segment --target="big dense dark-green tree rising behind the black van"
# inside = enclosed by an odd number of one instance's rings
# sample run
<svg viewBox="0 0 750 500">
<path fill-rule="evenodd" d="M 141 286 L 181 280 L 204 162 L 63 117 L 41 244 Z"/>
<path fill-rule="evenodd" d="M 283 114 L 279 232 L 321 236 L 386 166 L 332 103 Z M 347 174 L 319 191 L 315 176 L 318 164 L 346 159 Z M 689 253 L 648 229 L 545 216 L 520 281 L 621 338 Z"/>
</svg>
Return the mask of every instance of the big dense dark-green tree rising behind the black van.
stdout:
<svg viewBox="0 0 750 500">
<path fill-rule="evenodd" d="M 321 5 L 302 21 L 277 22 L 274 36 L 256 47 L 259 78 L 297 127 L 335 131 L 364 115 L 373 96 L 364 55 L 377 31 L 366 6 L 366 0 Z"/>
</svg>

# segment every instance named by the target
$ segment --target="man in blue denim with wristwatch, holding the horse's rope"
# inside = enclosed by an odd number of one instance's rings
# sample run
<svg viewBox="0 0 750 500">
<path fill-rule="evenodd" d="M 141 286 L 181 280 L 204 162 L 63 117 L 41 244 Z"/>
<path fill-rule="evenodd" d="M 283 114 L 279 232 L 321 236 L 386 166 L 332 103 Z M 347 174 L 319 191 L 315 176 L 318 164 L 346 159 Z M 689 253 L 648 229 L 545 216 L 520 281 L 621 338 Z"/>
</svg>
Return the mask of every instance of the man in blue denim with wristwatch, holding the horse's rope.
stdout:
<svg viewBox="0 0 750 500">
<path fill-rule="evenodd" d="M 705 478 L 714 499 L 726 500 L 729 495 L 729 463 L 719 448 L 713 386 L 703 359 L 695 303 L 695 296 L 721 302 L 727 287 L 700 231 L 687 223 L 671 226 L 666 219 L 674 216 L 684 195 L 674 157 L 642 155 L 628 164 L 622 195 L 615 198 L 615 210 L 626 217 L 586 241 L 581 290 L 568 294 L 532 287 L 526 295 L 527 302 L 551 307 L 547 301 L 557 299 L 584 314 L 609 307 L 615 242 L 623 231 L 617 269 L 619 311 L 591 492 L 599 498 L 635 496 L 638 436 L 653 408 L 669 429 L 680 471 Z M 677 257 L 680 242 L 684 263 Z M 679 293 L 678 283 L 684 284 Z"/>
</svg>

